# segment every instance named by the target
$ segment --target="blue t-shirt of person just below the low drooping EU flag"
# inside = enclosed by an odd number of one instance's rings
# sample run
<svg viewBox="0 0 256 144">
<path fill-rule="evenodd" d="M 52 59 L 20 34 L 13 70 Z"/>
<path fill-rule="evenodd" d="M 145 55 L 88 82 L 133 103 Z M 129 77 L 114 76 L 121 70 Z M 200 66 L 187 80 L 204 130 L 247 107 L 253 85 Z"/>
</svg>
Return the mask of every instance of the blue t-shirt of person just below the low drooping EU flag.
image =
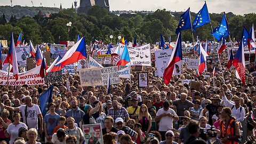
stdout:
<svg viewBox="0 0 256 144">
<path fill-rule="evenodd" d="M 55 126 L 58 125 L 60 115 L 55 113 L 55 115 L 47 114 L 44 117 L 44 123 L 46 123 L 47 135 L 52 135 Z"/>
</svg>

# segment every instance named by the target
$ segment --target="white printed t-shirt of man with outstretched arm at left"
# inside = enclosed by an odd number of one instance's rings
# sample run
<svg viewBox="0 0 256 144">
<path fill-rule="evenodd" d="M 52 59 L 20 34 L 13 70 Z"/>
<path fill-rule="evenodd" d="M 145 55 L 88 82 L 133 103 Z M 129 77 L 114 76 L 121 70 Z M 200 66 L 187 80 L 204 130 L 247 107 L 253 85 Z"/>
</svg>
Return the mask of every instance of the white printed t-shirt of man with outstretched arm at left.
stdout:
<svg viewBox="0 0 256 144">
<path fill-rule="evenodd" d="M 23 123 L 26 124 L 25 109 L 26 109 L 26 105 L 19 106 L 19 110 L 21 111 L 21 114 L 23 116 Z M 42 113 L 37 105 L 33 104 L 32 107 L 27 107 L 27 124 L 29 129 L 31 128 L 37 129 L 39 114 L 42 114 Z"/>
</svg>

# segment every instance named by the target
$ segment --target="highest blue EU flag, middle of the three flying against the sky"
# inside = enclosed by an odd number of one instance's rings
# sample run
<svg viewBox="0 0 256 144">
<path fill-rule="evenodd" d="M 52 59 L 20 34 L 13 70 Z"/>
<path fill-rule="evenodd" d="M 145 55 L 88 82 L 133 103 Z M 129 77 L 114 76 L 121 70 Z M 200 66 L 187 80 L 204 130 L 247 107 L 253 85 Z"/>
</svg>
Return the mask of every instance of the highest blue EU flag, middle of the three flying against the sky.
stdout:
<svg viewBox="0 0 256 144">
<path fill-rule="evenodd" d="M 202 9 L 197 13 L 195 17 L 195 20 L 193 22 L 193 31 L 195 31 L 197 27 L 201 27 L 209 22 L 211 22 L 211 19 L 205 2 Z"/>
</svg>

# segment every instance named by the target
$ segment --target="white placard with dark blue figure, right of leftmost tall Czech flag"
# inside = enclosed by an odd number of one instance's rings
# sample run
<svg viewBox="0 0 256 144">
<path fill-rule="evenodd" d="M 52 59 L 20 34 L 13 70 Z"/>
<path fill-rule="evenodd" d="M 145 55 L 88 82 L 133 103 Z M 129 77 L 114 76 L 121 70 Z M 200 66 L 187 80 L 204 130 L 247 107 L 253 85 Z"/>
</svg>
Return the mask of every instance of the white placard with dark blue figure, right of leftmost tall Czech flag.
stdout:
<svg viewBox="0 0 256 144">
<path fill-rule="evenodd" d="M 29 58 L 29 46 L 19 46 L 15 47 L 15 52 L 17 55 L 17 60 L 20 67 L 27 66 L 27 58 Z"/>
</svg>

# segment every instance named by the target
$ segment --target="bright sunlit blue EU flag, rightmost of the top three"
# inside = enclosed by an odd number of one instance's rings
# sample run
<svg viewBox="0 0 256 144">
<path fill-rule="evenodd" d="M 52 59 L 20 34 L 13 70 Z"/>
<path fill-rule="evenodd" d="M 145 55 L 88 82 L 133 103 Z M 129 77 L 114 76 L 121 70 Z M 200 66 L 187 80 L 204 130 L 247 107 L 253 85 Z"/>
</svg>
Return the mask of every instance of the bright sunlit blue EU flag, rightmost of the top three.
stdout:
<svg viewBox="0 0 256 144">
<path fill-rule="evenodd" d="M 220 22 L 220 25 L 214 28 L 212 35 L 220 41 L 222 37 L 229 36 L 229 29 L 228 29 L 228 22 L 226 19 L 225 13 L 223 14 L 222 20 Z"/>
</svg>

